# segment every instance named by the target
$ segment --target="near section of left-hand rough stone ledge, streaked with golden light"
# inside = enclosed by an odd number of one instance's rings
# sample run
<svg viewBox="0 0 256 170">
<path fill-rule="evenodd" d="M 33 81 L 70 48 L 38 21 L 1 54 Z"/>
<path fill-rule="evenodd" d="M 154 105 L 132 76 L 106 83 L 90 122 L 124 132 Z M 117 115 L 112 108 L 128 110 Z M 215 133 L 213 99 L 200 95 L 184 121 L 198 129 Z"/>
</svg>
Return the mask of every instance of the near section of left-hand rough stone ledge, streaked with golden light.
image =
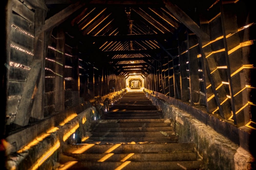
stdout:
<svg viewBox="0 0 256 170">
<path fill-rule="evenodd" d="M 62 146 L 67 143 L 77 143 L 88 131 L 91 118 L 96 113 L 95 107 L 90 107 L 63 125 L 55 126 L 55 130 L 45 133 L 46 137 L 38 139 L 35 145 L 25 148 L 20 153 L 8 155 L 7 169 L 52 169 L 57 162 L 57 155 L 62 152 Z M 75 133 L 75 139 L 72 134 Z M 26 137 L 25 135 L 24 137 Z"/>
</svg>

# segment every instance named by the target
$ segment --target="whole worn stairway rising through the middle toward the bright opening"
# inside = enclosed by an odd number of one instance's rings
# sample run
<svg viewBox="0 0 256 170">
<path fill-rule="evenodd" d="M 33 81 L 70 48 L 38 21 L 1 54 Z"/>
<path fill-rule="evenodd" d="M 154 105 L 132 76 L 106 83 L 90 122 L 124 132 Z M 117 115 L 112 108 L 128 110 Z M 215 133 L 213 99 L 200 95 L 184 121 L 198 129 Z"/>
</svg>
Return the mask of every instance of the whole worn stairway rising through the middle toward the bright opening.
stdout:
<svg viewBox="0 0 256 170">
<path fill-rule="evenodd" d="M 82 144 L 63 147 L 59 169 L 200 169 L 195 147 L 178 143 L 170 120 L 144 93 L 128 92 L 93 121 Z"/>
</svg>

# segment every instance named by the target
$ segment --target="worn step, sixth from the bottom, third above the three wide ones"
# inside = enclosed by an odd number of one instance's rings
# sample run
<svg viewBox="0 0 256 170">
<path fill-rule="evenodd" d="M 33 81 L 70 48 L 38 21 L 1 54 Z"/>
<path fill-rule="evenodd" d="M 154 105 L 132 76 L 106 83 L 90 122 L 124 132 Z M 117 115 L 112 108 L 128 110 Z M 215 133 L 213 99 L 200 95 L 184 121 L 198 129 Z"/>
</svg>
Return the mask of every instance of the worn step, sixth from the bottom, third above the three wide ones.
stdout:
<svg viewBox="0 0 256 170">
<path fill-rule="evenodd" d="M 129 119 L 128 119 L 129 120 Z M 131 119 L 132 120 L 132 119 Z M 146 119 L 145 119 L 146 120 Z M 155 119 L 157 120 L 157 119 Z M 111 120 L 113 121 L 113 120 Z M 92 128 L 155 128 L 155 127 L 170 127 L 171 123 L 93 123 Z"/>
</svg>

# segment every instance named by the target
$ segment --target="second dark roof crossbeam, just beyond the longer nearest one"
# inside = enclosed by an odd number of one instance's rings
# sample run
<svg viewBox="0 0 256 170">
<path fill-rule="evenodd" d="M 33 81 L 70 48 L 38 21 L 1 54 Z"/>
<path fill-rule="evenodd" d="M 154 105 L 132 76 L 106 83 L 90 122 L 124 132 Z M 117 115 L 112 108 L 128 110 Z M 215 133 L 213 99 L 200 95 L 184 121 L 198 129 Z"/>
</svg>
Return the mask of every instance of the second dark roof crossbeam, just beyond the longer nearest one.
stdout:
<svg viewBox="0 0 256 170">
<path fill-rule="evenodd" d="M 118 54 L 150 54 L 150 53 L 159 53 L 161 52 L 160 48 L 148 49 L 148 50 L 116 50 L 116 51 L 103 51 L 105 55 L 118 55 Z"/>
</svg>

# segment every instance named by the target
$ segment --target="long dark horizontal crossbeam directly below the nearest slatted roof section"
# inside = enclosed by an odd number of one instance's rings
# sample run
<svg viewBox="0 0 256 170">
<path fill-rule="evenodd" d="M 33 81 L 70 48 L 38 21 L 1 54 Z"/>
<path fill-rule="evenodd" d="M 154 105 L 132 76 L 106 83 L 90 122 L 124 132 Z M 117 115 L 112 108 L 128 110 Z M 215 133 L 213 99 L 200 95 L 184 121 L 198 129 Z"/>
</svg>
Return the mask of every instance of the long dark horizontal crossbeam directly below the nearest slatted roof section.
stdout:
<svg viewBox="0 0 256 170">
<path fill-rule="evenodd" d="M 170 39 L 172 33 L 158 33 L 158 34 L 132 34 L 132 35 L 99 35 L 89 36 L 92 41 L 139 41 L 139 40 L 155 40 L 158 39 Z"/>
</svg>

